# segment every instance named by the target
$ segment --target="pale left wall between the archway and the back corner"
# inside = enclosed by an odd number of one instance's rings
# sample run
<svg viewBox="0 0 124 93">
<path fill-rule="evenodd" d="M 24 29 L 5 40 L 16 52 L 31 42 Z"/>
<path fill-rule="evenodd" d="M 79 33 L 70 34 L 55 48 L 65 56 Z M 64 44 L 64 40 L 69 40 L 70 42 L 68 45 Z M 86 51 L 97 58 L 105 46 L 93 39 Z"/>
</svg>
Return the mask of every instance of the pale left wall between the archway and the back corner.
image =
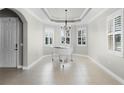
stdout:
<svg viewBox="0 0 124 93">
<path fill-rule="evenodd" d="M 26 8 L 17 8 L 27 21 L 24 27 L 24 66 L 29 66 L 43 56 L 43 23 Z"/>
</svg>

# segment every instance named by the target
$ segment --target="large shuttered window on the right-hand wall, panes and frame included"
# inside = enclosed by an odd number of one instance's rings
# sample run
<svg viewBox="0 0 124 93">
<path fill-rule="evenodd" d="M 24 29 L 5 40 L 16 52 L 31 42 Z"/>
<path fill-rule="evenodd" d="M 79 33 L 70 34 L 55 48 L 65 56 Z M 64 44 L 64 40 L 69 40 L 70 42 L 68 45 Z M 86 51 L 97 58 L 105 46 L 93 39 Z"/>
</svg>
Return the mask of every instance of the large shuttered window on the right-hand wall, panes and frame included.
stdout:
<svg viewBox="0 0 124 93">
<path fill-rule="evenodd" d="M 108 49 L 123 56 L 123 18 L 122 9 L 108 17 Z"/>
</svg>

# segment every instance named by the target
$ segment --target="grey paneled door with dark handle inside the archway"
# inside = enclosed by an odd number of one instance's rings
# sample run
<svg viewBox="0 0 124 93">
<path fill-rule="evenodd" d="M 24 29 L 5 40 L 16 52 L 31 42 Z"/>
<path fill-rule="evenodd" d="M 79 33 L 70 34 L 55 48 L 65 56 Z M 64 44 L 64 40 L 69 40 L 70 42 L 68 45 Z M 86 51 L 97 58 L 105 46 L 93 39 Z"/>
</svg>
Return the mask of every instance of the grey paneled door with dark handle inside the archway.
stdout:
<svg viewBox="0 0 124 93">
<path fill-rule="evenodd" d="M 17 67 L 17 18 L 0 18 L 0 67 Z"/>
</svg>

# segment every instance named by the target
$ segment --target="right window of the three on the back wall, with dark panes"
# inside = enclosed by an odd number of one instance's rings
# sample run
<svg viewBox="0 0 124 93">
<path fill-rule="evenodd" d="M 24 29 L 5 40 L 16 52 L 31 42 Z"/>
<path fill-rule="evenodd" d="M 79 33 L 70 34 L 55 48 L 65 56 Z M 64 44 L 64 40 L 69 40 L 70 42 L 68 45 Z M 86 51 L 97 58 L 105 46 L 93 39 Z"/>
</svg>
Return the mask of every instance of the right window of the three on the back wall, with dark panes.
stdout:
<svg viewBox="0 0 124 93">
<path fill-rule="evenodd" d="M 77 45 L 85 46 L 87 42 L 86 27 L 81 27 L 77 31 Z"/>
</svg>

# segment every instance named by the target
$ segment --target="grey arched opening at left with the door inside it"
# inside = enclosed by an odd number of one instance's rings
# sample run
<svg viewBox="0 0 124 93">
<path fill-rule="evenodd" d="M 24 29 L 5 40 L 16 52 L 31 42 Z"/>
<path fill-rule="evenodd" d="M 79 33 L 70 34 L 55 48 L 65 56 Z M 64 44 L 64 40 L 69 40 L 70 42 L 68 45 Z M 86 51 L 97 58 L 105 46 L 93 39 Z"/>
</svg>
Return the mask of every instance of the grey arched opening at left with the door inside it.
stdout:
<svg viewBox="0 0 124 93">
<path fill-rule="evenodd" d="M 16 9 L 8 9 L 4 8 L 0 10 L 0 24 L 1 26 L 1 45 L 4 47 L 1 47 L 1 50 L 7 50 L 8 48 L 13 48 L 13 53 L 10 53 L 11 49 L 8 49 L 8 51 L 1 51 L 1 59 L 2 63 L 0 63 L 0 67 L 16 67 L 16 68 L 22 68 L 23 66 L 27 65 L 27 56 L 26 56 L 26 37 L 25 33 L 27 32 L 27 21 L 25 17 Z M 15 20 L 15 21 L 14 21 Z M 11 22 L 10 22 L 11 21 Z M 12 25 L 13 24 L 13 25 Z M 15 25 L 14 25 L 15 24 Z M 13 33 L 14 26 L 16 28 L 16 34 Z M 6 31 L 5 31 L 6 29 Z M 13 30 L 13 31 L 12 31 Z M 18 30 L 18 31 L 17 31 Z M 25 33 L 24 33 L 25 32 Z M 14 35 L 12 35 L 12 33 Z M 8 38 L 9 37 L 9 38 Z M 15 38 L 13 38 L 15 37 Z M 11 40 L 13 39 L 13 40 Z M 7 41 L 7 42 L 6 42 Z M 9 42 L 10 41 L 10 42 Z M 14 41 L 14 46 L 11 44 Z M 6 42 L 6 43 L 5 43 Z M 15 43 L 16 42 L 16 43 Z M 8 47 L 8 46 L 11 47 Z M 12 47 L 13 46 L 13 47 Z M 16 55 L 15 55 L 16 54 Z M 10 55 L 15 57 L 10 57 Z M 16 63 L 12 62 L 16 60 Z M 11 60 L 10 63 L 7 63 L 8 60 Z M 15 64 L 15 65 L 12 65 Z M 9 66 L 10 65 L 10 66 Z"/>
</svg>

